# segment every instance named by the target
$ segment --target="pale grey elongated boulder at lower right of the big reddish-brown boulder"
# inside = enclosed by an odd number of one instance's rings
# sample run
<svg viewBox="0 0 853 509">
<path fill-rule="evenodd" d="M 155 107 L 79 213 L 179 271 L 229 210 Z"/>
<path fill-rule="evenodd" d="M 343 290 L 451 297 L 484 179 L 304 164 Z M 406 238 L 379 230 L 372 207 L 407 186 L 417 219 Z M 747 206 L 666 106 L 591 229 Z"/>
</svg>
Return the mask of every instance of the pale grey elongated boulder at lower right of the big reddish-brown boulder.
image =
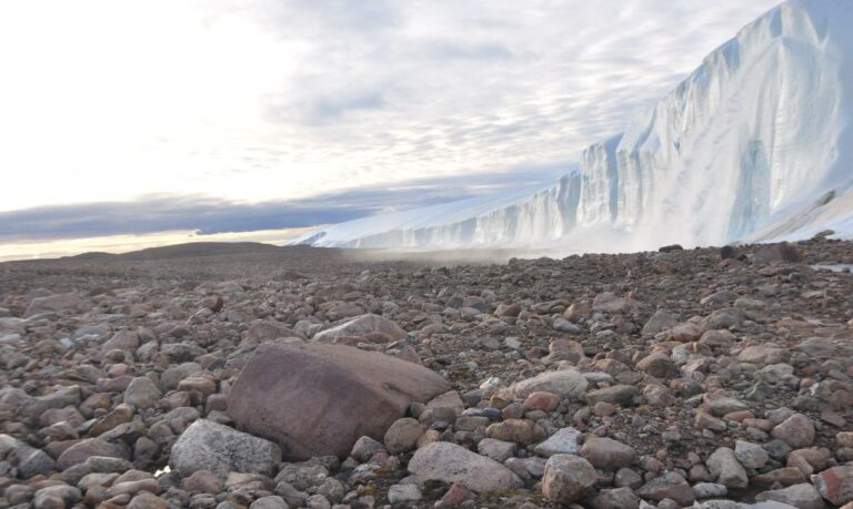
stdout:
<svg viewBox="0 0 853 509">
<path fill-rule="evenodd" d="M 478 492 L 519 488 L 522 485 L 512 470 L 498 461 L 446 441 L 434 441 L 418 449 L 409 461 L 409 471 L 421 481 L 460 482 Z"/>
</svg>

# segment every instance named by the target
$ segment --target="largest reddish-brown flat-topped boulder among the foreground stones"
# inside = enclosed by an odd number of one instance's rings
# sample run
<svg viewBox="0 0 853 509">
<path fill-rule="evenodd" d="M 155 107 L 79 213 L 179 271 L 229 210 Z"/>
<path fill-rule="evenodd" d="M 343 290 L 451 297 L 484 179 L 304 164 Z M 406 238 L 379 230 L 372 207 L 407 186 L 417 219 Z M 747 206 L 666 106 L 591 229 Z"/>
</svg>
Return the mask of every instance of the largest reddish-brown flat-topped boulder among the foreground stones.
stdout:
<svg viewBox="0 0 853 509">
<path fill-rule="evenodd" d="M 411 401 L 450 385 L 422 366 L 343 345 L 258 347 L 228 397 L 238 428 L 277 441 L 282 457 L 345 457 L 368 436 L 382 440 Z"/>
</svg>

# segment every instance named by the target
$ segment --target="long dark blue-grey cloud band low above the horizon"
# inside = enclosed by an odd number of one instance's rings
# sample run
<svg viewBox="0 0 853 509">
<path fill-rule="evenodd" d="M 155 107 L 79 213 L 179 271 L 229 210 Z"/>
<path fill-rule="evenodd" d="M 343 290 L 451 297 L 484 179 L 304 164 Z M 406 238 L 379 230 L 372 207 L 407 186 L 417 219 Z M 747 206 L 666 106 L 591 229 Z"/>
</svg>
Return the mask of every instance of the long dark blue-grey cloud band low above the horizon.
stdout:
<svg viewBox="0 0 853 509">
<path fill-rule="evenodd" d="M 422 179 L 310 198 L 239 203 L 198 195 L 150 195 L 131 202 L 97 202 L 0 212 L 0 244 L 195 230 L 201 234 L 299 228 L 339 223 L 391 208 L 403 210 L 500 192 L 520 184 L 543 187 L 569 165 L 489 175 Z"/>
</svg>

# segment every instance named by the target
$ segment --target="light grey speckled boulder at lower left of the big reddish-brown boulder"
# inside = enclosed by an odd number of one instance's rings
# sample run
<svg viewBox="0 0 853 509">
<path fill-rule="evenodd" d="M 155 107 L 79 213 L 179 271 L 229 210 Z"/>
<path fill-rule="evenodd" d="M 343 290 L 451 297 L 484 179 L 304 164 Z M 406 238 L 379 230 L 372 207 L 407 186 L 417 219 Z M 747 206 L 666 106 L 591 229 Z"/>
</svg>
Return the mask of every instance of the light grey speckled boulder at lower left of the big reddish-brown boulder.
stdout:
<svg viewBox="0 0 853 509">
<path fill-rule="evenodd" d="M 280 460 L 275 444 L 199 419 L 178 437 L 169 464 L 183 477 L 199 470 L 220 476 L 231 471 L 273 476 Z"/>
</svg>

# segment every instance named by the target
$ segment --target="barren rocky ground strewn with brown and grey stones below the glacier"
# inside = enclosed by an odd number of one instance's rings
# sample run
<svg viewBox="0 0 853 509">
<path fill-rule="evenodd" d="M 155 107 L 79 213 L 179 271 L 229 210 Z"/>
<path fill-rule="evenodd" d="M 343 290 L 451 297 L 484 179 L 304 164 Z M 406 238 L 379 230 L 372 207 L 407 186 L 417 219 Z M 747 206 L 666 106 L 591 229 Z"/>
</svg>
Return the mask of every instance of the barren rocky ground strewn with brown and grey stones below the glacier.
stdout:
<svg viewBox="0 0 853 509">
<path fill-rule="evenodd" d="M 2 264 L 0 508 L 853 507 L 853 243 L 662 251 Z"/>
</svg>

